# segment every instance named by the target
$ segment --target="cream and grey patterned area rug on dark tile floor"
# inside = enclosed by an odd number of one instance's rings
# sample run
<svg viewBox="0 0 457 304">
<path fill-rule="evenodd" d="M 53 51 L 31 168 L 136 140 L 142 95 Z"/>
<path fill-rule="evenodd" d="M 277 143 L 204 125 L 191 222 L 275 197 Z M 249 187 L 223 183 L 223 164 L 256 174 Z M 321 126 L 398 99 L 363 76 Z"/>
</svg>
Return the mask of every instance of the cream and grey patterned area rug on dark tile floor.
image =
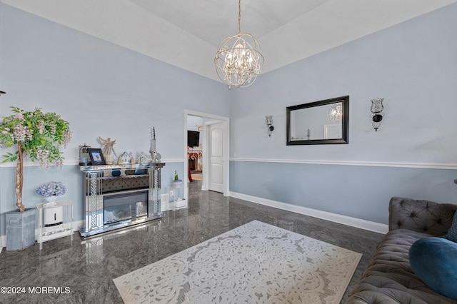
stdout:
<svg viewBox="0 0 457 304">
<path fill-rule="evenodd" d="M 360 258 L 252 221 L 114 284 L 125 303 L 340 303 Z"/>
</svg>

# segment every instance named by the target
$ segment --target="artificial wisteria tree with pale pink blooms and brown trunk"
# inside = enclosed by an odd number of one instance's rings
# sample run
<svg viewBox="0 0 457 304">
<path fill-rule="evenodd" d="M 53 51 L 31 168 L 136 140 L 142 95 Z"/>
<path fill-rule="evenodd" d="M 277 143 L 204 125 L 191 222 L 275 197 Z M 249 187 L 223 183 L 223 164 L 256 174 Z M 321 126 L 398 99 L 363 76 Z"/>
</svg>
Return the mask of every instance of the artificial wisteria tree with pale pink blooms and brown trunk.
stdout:
<svg viewBox="0 0 457 304">
<path fill-rule="evenodd" d="M 71 131 L 69 123 L 56 113 L 43 113 L 41 108 L 34 111 L 10 108 L 14 114 L 4 117 L 0 124 L 0 147 L 17 145 L 16 153 L 7 152 L 3 163 L 16 161 L 16 206 L 23 212 L 24 155 L 31 161 L 38 161 L 46 171 L 52 164 L 62 168 L 64 157 L 60 148 L 61 145 L 66 148 Z"/>
</svg>

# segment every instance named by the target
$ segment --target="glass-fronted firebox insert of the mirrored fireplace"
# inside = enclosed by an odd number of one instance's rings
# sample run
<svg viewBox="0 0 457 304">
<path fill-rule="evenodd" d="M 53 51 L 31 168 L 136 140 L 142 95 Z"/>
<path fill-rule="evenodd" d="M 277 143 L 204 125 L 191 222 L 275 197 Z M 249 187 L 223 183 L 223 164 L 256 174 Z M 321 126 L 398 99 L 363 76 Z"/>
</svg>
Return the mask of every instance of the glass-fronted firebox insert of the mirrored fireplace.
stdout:
<svg viewBox="0 0 457 304">
<path fill-rule="evenodd" d="M 148 196 L 148 190 L 105 195 L 103 198 L 104 225 L 147 216 Z"/>
</svg>

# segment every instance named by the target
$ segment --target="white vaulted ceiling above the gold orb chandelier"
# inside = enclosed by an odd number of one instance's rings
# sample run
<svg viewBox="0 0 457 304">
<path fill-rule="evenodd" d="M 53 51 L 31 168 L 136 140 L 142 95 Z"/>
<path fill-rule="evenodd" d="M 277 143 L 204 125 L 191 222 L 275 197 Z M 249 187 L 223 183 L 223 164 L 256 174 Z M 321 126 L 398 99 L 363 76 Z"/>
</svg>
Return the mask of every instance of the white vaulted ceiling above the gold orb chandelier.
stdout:
<svg viewBox="0 0 457 304">
<path fill-rule="evenodd" d="M 218 80 L 219 43 L 238 33 L 236 0 L 0 0 L 31 14 Z M 243 0 L 241 32 L 263 73 L 457 0 Z"/>
</svg>

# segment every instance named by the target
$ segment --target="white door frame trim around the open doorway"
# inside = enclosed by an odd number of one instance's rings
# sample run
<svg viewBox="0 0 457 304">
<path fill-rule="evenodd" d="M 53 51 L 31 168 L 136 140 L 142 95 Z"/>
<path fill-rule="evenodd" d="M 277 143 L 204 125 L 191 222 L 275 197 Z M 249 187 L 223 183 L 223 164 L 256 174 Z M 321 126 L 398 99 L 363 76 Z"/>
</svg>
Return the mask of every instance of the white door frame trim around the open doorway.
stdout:
<svg viewBox="0 0 457 304">
<path fill-rule="evenodd" d="M 223 183 L 224 183 L 224 196 L 229 196 L 230 192 L 230 162 L 229 162 L 229 155 L 230 155 L 230 118 L 225 116 L 213 115 L 209 113 L 191 111 L 191 110 L 184 110 L 184 183 L 189 183 L 189 161 L 187 161 L 187 116 L 199 116 L 202 118 L 209 118 L 213 119 L 214 123 L 217 121 L 218 123 L 225 123 L 226 132 L 224 132 L 224 168 L 223 168 Z M 211 124 L 211 122 L 209 122 Z M 204 171 L 209 168 L 209 160 L 208 158 L 208 132 L 206 131 L 206 127 L 209 125 L 207 123 L 204 124 L 204 144 L 203 144 L 203 155 L 204 155 Z M 204 185 L 202 190 L 208 190 L 208 178 L 204 178 Z M 205 187 L 206 186 L 206 187 Z"/>
</svg>

